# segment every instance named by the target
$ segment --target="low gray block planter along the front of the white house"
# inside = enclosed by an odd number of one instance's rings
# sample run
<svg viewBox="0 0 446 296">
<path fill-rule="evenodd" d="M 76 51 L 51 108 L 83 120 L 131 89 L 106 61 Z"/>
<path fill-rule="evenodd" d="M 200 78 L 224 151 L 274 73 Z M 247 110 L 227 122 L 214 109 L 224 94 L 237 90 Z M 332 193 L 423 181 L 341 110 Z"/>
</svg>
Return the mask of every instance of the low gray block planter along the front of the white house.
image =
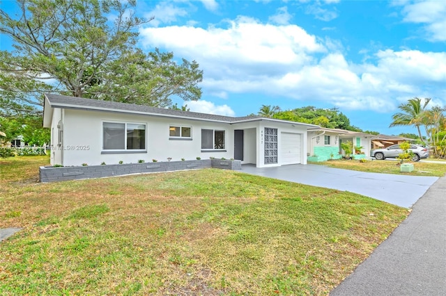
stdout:
<svg viewBox="0 0 446 296">
<path fill-rule="evenodd" d="M 217 160 L 211 161 L 208 159 L 200 161 L 169 161 L 159 163 L 126 163 L 122 165 L 89 165 L 85 167 L 40 167 L 39 176 L 40 182 L 54 182 L 101 178 L 105 176 L 123 176 L 126 174 L 197 170 L 207 167 L 241 170 L 241 161 L 225 161 L 228 165 L 216 161 Z"/>
</svg>

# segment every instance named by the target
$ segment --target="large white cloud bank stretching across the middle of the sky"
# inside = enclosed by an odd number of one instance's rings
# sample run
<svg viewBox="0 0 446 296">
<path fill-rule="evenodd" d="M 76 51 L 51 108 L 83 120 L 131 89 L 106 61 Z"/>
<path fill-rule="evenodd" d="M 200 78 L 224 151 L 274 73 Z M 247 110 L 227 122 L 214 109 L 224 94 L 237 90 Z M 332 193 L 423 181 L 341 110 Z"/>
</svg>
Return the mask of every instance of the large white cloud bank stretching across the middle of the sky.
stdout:
<svg viewBox="0 0 446 296">
<path fill-rule="evenodd" d="M 378 112 L 393 111 L 398 97 L 430 93 L 445 99 L 444 52 L 380 46 L 369 49 L 364 62 L 351 63 L 339 40 L 309 35 L 296 25 L 261 24 L 249 17 L 227 24 L 144 28 L 141 38 L 148 49 L 162 47 L 197 60 L 204 73 L 203 98 L 255 92 Z"/>
</svg>

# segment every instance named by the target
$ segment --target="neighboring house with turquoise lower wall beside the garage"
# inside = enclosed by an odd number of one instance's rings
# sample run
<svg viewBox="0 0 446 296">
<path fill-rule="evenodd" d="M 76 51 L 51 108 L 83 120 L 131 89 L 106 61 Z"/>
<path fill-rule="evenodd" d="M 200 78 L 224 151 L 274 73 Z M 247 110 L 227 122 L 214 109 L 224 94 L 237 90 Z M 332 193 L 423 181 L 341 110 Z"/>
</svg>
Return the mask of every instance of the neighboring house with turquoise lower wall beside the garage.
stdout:
<svg viewBox="0 0 446 296">
<path fill-rule="evenodd" d="M 346 131 L 344 129 L 327 129 L 323 127 L 308 129 L 307 150 L 308 161 L 328 161 L 329 159 L 339 159 L 342 157 L 341 142 L 351 141 L 353 144 L 353 154 L 355 148 L 360 154 L 355 154 L 354 158 L 365 158 L 370 155 L 371 138 L 374 135 L 369 133 L 359 133 L 356 131 Z"/>
</svg>

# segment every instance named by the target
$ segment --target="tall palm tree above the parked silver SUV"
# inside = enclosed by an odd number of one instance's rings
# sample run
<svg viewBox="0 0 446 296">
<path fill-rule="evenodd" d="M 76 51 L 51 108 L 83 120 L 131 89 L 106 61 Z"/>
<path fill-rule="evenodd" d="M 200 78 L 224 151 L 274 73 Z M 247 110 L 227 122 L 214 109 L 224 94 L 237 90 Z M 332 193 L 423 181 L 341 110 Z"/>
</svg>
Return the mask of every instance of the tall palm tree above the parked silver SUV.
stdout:
<svg viewBox="0 0 446 296">
<path fill-rule="evenodd" d="M 409 99 L 406 104 L 401 104 L 398 108 L 402 111 L 392 115 L 393 122 L 390 124 L 392 126 L 399 125 L 412 125 L 417 128 L 418 135 L 420 135 L 420 140 L 426 144 L 421 135 L 420 126 L 424 125 L 427 116 L 426 106 L 431 101 L 430 98 L 424 99 L 424 104 L 422 104 L 422 99 L 413 98 Z"/>
</svg>

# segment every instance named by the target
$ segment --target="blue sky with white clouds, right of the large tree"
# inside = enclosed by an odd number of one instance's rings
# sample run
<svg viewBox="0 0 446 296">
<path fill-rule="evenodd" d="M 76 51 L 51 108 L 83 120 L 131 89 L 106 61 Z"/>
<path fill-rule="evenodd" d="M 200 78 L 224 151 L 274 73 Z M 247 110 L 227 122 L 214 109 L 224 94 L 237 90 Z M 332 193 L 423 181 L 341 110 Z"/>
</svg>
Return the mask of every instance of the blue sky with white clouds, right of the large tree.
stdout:
<svg viewBox="0 0 446 296">
<path fill-rule="evenodd" d="M 446 1 L 138 1 L 139 47 L 203 69 L 191 110 L 333 108 L 386 134 L 413 97 L 446 103 Z M 3 45 L 5 46 L 5 40 Z M 179 105 L 183 101 L 177 101 Z"/>
</svg>

